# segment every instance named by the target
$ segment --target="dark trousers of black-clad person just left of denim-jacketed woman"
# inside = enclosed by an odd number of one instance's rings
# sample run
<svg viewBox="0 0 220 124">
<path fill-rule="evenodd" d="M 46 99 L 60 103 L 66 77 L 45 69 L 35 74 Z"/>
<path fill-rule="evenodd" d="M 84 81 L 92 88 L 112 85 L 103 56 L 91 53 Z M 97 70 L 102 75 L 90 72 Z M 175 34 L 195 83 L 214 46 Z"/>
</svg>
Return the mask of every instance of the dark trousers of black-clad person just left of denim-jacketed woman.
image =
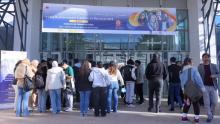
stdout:
<svg viewBox="0 0 220 124">
<path fill-rule="evenodd" d="M 178 101 L 179 106 L 182 107 L 182 100 L 180 97 L 181 85 L 180 83 L 170 83 L 169 85 L 169 95 L 170 95 L 170 104 L 171 109 L 174 109 L 175 99 Z"/>
</svg>

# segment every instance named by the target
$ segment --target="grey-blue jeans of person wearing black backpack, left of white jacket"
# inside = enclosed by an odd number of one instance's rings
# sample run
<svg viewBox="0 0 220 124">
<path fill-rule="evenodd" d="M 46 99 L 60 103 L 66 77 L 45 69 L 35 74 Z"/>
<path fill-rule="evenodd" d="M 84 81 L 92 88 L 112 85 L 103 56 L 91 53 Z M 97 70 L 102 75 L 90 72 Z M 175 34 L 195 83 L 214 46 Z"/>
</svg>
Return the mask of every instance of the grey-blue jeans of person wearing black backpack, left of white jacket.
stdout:
<svg viewBox="0 0 220 124">
<path fill-rule="evenodd" d="M 46 112 L 47 92 L 44 89 L 37 89 L 38 112 Z"/>
</svg>

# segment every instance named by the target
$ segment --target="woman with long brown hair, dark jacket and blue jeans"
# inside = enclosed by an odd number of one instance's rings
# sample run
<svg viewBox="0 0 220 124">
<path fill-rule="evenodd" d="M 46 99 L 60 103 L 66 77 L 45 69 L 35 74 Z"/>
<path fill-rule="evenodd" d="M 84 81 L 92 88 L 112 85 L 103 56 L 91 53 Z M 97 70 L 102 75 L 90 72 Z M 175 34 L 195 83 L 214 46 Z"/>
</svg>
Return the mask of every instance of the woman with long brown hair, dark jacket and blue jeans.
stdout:
<svg viewBox="0 0 220 124">
<path fill-rule="evenodd" d="M 80 93 L 80 114 L 81 116 L 87 116 L 90 94 L 92 90 L 92 82 L 89 81 L 89 75 L 91 72 L 91 63 L 89 61 L 83 61 L 79 69 L 78 75 L 78 90 Z"/>
</svg>

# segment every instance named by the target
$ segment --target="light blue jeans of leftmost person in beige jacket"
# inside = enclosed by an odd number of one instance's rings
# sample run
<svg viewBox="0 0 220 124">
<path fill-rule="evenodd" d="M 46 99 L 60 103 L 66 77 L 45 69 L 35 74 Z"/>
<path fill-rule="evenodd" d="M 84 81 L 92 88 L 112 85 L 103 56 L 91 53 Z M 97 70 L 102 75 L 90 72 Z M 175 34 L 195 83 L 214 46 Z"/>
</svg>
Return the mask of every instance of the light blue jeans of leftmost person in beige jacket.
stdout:
<svg viewBox="0 0 220 124">
<path fill-rule="evenodd" d="M 23 88 L 18 88 L 18 102 L 16 105 L 16 116 L 17 117 L 27 117 L 29 116 L 28 111 L 28 101 L 29 101 L 30 91 L 25 92 Z"/>
</svg>

